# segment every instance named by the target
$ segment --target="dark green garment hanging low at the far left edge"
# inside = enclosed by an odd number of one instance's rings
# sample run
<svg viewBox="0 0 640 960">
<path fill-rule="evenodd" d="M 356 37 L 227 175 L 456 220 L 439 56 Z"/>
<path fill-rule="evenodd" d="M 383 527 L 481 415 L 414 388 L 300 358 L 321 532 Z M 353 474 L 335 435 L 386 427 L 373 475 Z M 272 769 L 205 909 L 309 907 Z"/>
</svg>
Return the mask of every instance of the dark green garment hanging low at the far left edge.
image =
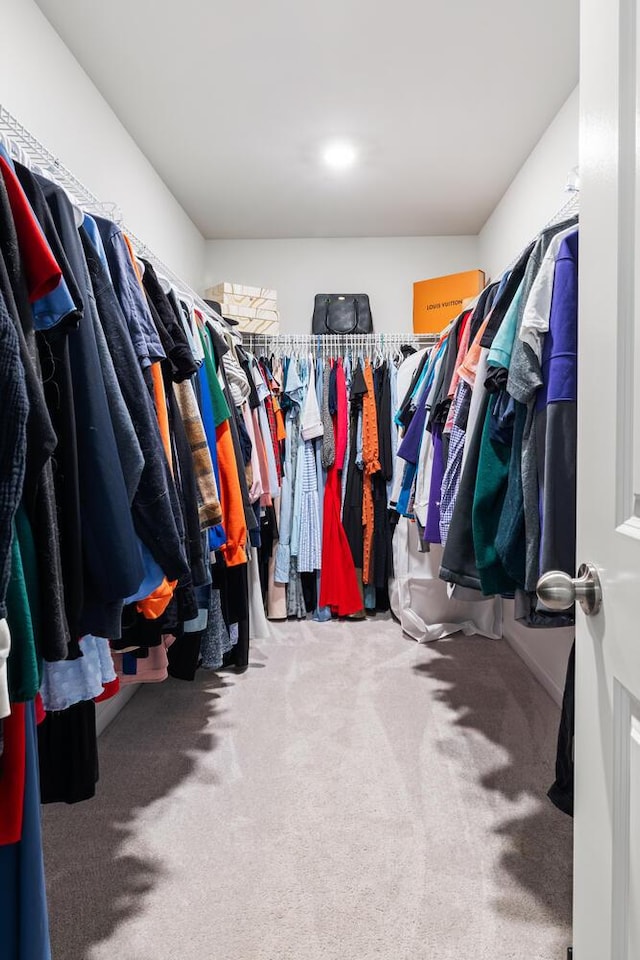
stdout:
<svg viewBox="0 0 640 960">
<path fill-rule="evenodd" d="M 9 699 L 13 703 L 33 700 L 40 689 L 42 662 L 36 651 L 38 612 L 35 544 L 29 520 L 20 505 L 14 521 L 11 577 L 7 590 L 7 623 L 11 633 L 7 671 Z"/>
</svg>

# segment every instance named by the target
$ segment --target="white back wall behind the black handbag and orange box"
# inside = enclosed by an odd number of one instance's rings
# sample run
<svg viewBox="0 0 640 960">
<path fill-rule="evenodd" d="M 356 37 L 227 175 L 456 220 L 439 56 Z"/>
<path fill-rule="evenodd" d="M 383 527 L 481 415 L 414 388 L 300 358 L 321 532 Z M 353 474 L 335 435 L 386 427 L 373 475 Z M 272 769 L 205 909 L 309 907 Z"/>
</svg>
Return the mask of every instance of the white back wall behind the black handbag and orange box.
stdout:
<svg viewBox="0 0 640 960">
<path fill-rule="evenodd" d="M 210 240 L 205 286 L 275 288 L 283 333 L 311 332 L 316 293 L 368 293 L 377 332 L 408 332 L 414 281 L 477 268 L 477 237 Z"/>
</svg>

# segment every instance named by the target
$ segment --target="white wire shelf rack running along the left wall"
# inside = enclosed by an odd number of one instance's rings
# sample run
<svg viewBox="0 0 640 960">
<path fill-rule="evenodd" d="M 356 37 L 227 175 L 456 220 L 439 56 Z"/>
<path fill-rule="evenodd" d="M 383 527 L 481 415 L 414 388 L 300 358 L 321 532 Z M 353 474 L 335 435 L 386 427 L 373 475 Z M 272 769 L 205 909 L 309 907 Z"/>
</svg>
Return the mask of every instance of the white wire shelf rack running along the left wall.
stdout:
<svg viewBox="0 0 640 960">
<path fill-rule="evenodd" d="M 213 317 L 225 333 L 230 332 L 222 317 L 216 313 L 209 304 L 205 303 L 202 297 L 179 277 L 168 264 L 161 260 L 144 240 L 141 240 L 140 237 L 129 230 L 123 222 L 122 212 L 117 204 L 105 203 L 99 200 L 95 193 L 85 186 L 68 167 L 61 163 L 43 143 L 34 137 L 3 104 L 0 104 L 0 141 L 4 141 L 6 149 L 16 160 L 25 166 L 34 168 L 35 172 L 40 172 L 49 179 L 55 180 L 55 182 L 70 195 L 70 199 L 74 201 L 77 206 L 99 213 L 99 215 L 108 220 L 115 221 L 123 233 L 126 233 L 138 256 L 149 260 L 158 273 L 171 281 L 183 295 L 193 300 L 194 305 L 197 306 L 202 313 Z"/>
</svg>

